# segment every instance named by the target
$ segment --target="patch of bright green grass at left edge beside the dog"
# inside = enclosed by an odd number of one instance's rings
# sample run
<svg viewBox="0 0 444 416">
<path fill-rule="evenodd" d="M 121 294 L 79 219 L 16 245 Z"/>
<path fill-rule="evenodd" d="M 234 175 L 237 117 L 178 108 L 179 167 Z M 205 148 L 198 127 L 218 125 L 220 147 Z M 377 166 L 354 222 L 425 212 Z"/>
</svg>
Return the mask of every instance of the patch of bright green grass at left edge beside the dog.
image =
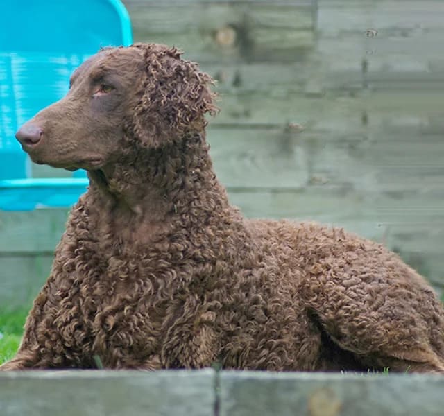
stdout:
<svg viewBox="0 0 444 416">
<path fill-rule="evenodd" d="M 10 360 L 22 339 L 28 309 L 0 311 L 0 364 Z"/>
</svg>

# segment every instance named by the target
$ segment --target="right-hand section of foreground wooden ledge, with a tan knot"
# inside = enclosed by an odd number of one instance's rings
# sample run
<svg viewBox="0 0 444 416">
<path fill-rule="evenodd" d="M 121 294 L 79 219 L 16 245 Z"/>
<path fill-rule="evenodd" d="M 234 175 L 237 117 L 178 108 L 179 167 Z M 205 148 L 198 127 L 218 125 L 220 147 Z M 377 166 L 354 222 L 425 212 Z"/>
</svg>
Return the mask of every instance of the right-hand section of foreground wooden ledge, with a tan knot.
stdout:
<svg viewBox="0 0 444 416">
<path fill-rule="evenodd" d="M 220 415 L 438 416 L 442 376 L 222 372 Z"/>
</svg>

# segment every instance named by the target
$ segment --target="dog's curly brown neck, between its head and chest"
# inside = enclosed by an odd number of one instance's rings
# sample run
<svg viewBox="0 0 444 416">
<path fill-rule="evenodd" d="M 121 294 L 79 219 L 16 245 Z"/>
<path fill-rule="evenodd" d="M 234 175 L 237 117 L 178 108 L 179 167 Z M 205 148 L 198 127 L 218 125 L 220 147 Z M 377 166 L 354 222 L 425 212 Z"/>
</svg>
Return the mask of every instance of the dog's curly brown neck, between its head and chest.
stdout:
<svg viewBox="0 0 444 416">
<path fill-rule="evenodd" d="M 203 211 L 229 207 L 202 135 L 184 137 L 180 145 L 139 148 L 90 171 L 89 178 L 104 211 L 127 211 L 128 218 L 145 222 L 161 223 L 191 204 Z"/>
</svg>

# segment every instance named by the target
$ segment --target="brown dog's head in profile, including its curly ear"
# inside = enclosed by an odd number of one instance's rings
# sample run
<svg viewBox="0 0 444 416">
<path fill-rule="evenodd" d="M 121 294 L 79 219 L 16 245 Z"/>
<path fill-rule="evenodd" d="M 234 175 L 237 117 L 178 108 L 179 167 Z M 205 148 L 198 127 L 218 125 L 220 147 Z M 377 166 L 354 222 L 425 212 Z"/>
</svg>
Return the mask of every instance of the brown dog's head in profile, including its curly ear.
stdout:
<svg viewBox="0 0 444 416">
<path fill-rule="evenodd" d="M 211 83 L 174 48 L 103 49 L 74 71 L 67 95 L 16 137 L 36 163 L 94 170 L 203 131 L 205 113 L 216 112 Z"/>
</svg>

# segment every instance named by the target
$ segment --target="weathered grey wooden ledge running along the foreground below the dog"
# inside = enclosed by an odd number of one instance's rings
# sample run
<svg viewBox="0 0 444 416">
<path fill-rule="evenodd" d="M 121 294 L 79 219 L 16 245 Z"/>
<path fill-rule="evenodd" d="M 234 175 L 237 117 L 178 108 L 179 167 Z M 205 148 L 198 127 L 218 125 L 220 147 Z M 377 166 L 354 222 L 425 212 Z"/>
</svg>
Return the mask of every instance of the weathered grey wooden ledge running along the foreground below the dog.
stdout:
<svg viewBox="0 0 444 416">
<path fill-rule="evenodd" d="M 1 416 L 432 416 L 444 376 L 196 371 L 0 373 Z"/>
</svg>

